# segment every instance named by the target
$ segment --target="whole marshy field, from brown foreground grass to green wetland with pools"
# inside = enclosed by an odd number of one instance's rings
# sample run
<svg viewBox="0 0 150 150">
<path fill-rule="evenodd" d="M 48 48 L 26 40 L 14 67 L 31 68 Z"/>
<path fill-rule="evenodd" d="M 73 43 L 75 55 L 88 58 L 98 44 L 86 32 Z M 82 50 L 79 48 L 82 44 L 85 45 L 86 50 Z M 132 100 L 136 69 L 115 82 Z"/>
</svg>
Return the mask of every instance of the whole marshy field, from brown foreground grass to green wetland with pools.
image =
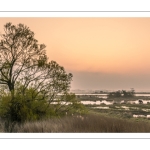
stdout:
<svg viewBox="0 0 150 150">
<path fill-rule="evenodd" d="M 79 97 L 78 97 L 79 98 Z M 0 122 L 0 132 L 13 133 L 137 133 L 150 132 L 150 104 L 139 104 L 138 99 L 146 97 L 118 99 L 98 99 L 80 97 L 81 101 L 101 102 L 87 104 L 87 114 L 72 114 L 61 118 L 51 118 L 24 124 Z M 107 105 L 103 102 L 110 102 Z M 132 102 L 132 103 L 131 103 Z"/>
</svg>

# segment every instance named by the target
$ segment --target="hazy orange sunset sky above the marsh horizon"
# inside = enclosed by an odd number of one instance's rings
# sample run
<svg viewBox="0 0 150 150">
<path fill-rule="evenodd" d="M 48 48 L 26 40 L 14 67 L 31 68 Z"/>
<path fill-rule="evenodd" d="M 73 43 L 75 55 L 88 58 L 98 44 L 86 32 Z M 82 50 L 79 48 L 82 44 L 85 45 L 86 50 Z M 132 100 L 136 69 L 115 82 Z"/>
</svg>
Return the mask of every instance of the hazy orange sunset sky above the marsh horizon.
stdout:
<svg viewBox="0 0 150 150">
<path fill-rule="evenodd" d="M 150 18 L 0 18 L 23 23 L 39 44 L 73 74 L 71 89 L 150 91 Z"/>
</svg>

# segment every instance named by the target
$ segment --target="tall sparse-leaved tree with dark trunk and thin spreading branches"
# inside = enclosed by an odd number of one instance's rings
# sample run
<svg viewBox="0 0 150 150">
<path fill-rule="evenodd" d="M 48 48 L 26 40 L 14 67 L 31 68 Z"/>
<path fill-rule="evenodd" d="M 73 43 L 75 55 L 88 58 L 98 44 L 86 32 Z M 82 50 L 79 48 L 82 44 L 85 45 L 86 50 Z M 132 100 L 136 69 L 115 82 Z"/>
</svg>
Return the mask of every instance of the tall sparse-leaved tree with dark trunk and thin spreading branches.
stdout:
<svg viewBox="0 0 150 150">
<path fill-rule="evenodd" d="M 65 101 L 68 96 L 73 75 L 67 74 L 55 61 L 48 62 L 45 48 L 44 44 L 38 44 L 34 32 L 24 24 L 4 25 L 0 41 L 0 85 L 9 94 L 12 121 L 17 120 L 18 111 L 13 113 L 16 105 L 18 108 L 20 95 L 22 102 L 46 101 L 46 108 L 54 100 L 61 98 Z M 69 100 L 72 98 L 70 96 Z M 62 105 L 58 103 L 53 107 L 60 110 L 58 106 Z"/>
</svg>

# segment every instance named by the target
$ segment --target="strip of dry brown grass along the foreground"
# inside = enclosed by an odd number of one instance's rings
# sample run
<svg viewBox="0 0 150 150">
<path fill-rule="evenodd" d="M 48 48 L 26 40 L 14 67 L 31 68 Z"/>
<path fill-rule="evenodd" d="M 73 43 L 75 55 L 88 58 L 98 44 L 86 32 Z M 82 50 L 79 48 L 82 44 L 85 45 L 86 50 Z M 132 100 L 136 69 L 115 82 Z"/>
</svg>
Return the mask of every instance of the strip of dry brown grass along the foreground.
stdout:
<svg viewBox="0 0 150 150">
<path fill-rule="evenodd" d="M 6 132 L 1 122 L 1 132 Z M 119 119 L 99 114 L 67 116 L 15 125 L 13 133 L 140 133 L 150 132 L 150 122 Z"/>
</svg>

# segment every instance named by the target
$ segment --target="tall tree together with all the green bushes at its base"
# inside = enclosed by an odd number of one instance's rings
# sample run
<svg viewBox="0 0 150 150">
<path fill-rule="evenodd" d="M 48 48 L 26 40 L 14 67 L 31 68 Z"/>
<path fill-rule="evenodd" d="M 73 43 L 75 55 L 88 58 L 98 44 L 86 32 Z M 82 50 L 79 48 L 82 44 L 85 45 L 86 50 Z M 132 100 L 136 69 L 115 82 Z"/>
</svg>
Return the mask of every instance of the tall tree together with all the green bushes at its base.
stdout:
<svg viewBox="0 0 150 150">
<path fill-rule="evenodd" d="M 48 62 L 45 45 L 24 24 L 4 25 L 0 40 L 0 116 L 26 122 L 82 112 L 69 94 L 73 75 L 55 61 Z M 55 101 L 56 100 L 56 101 Z"/>
</svg>

